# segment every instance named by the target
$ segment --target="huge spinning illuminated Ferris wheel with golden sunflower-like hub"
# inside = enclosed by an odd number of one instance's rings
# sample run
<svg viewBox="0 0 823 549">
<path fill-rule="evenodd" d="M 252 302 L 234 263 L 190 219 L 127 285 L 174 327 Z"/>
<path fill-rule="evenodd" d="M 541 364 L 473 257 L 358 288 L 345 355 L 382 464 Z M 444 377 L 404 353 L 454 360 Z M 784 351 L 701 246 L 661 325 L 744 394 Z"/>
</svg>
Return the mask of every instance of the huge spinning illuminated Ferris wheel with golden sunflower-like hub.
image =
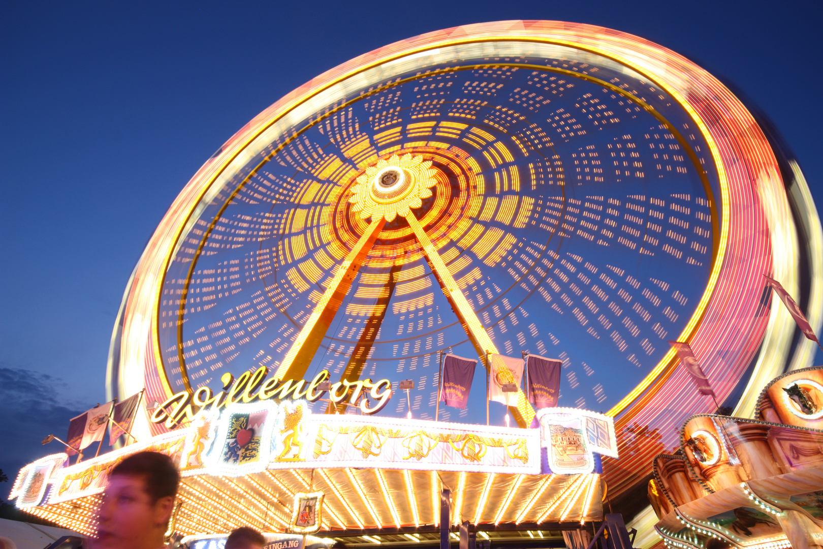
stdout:
<svg viewBox="0 0 823 549">
<path fill-rule="evenodd" d="M 728 394 L 769 319 L 787 207 L 750 121 L 700 67 L 600 27 L 508 21 L 365 54 L 180 193 L 123 300 L 109 389 L 162 402 L 259 366 L 328 370 L 412 379 L 382 413 L 433 419 L 440 351 L 529 351 L 564 361 L 561 406 L 675 425 L 704 403 L 667 340 L 723 350 L 707 366 Z M 480 422 L 484 400 L 441 419 Z M 522 395 L 511 412 L 533 415 Z"/>
</svg>

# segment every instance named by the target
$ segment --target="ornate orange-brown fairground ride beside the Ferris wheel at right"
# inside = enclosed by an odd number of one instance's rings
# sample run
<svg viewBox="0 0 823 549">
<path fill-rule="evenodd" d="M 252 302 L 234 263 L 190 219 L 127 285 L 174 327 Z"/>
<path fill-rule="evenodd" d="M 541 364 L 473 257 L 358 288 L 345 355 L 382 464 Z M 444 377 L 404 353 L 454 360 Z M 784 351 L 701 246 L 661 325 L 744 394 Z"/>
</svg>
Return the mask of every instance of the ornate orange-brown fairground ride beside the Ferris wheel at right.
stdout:
<svg viewBox="0 0 823 549">
<path fill-rule="evenodd" d="M 672 549 L 823 546 L 823 366 L 760 393 L 758 419 L 699 414 L 653 460 L 649 500 Z"/>
</svg>

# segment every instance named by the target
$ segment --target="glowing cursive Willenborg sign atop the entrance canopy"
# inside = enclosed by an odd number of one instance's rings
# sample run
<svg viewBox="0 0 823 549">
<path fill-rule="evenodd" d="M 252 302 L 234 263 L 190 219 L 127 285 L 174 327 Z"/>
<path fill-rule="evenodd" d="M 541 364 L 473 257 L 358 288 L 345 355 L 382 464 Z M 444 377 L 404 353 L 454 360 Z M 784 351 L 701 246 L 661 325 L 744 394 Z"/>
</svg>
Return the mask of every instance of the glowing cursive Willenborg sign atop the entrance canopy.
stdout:
<svg viewBox="0 0 823 549">
<path fill-rule="evenodd" d="M 360 399 L 360 411 L 365 414 L 375 414 L 388 404 L 389 398 L 392 398 L 392 382 L 388 379 L 380 379 L 377 382 L 372 382 L 371 379 L 358 379 L 357 381 L 343 379 L 336 384 L 331 384 L 328 388 L 319 388 L 321 384 L 328 384 L 328 379 L 331 377 L 328 370 L 315 375 L 308 384 L 305 379 L 296 382 L 294 379 L 266 379 L 267 375 L 268 369 L 265 366 L 254 371 L 245 371 L 237 379 L 226 373 L 221 378 L 223 390 L 220 393 L 215 394 L 208 387 L 200 387 L 194 393 L 188 391 L 176 393 L 156 408 L 151 414 L 151 421 L 152 423 L 165 422 L 167 428 L 173 429 L 181 421 L 186 419 L 191 421 L 197 412 L 209 406 L 216 411 L 235 402 L 248 403 L 270 398 L 279 400 L 305 398 L 309 402 L 317 402 L 323 398 L 324 393 L 328 393 L 328 400 L 335 405 L 346 402 L 346 400 L 356 405 Z M 365 398 L 366 395 L 369 398 Z M 370 399 L 377 402 L 374 407 L 370 406 Z M 166 410 L 168 407 L 172 408 L 170 412 Z"/>
</svg>

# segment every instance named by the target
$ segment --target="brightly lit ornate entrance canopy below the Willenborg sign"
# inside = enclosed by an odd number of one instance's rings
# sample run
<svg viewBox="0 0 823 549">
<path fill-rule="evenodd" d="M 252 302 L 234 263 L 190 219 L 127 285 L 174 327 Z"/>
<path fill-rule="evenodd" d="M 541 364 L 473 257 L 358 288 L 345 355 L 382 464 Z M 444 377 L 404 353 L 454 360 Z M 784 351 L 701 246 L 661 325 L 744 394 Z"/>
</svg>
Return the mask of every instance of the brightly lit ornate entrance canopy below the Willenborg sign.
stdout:
<svg viewBox="0 0 823 549">
<path fill-rule="evenodd" d="M 21 470 L 10 497 L 91 534 L 110 470 L 153 450 L 179 463 L 174 530 L 184 534 L 242 525 L 288 531 L 295 498 L 310 492 L 323 492 L 326 534 L 438 526 L 444 489 L 453 524 L 548 529 L 599 519 L 599 454 L 616 457 L 610 418 L 570 408 L 546 408 L 538 418 L 537 428 L 518 429 L 311 414 L 305 401 L 233 404 L 69 467 L 66 454 L 40 459 Z M 244 440 L 241 430 L 253 436 Z"/>
</svg>

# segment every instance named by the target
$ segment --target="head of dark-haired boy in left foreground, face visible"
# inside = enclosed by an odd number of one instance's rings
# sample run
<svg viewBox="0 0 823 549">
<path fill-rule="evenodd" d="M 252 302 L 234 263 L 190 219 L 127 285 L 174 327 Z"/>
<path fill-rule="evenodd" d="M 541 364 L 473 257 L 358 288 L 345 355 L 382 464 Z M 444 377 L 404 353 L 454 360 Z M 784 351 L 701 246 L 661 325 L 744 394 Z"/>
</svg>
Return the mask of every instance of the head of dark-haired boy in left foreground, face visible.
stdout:
<svg viewBox="0 0 823 549">
<path fill-rule="evenodd" d="M 100 504 L 96 547 L 157 549 L 163 545 L 180 475 L 165 454 L 138 452 L 112 469 Z"/>
</svg>

